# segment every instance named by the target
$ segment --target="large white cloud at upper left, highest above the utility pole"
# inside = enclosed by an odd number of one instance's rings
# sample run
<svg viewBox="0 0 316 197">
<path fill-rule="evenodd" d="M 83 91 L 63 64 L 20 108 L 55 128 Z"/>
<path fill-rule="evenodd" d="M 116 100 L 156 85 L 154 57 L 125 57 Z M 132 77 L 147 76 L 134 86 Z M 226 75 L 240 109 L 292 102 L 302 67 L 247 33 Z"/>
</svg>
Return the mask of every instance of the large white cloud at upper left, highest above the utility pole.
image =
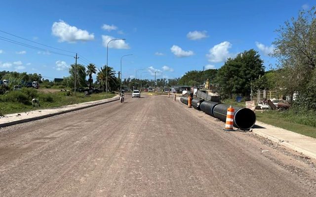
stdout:
<svg viewBox="0 0 316 197">
<path fill-rule="evenodd" d="M 53 35 L 59 37 L 59 42 L 89 41 L 94 39 L 93 33 L 90 34 L 86 30 L 70 26 L 62 20 L 55 22 L 51 27 L 51 31 Z"/>
</svg>

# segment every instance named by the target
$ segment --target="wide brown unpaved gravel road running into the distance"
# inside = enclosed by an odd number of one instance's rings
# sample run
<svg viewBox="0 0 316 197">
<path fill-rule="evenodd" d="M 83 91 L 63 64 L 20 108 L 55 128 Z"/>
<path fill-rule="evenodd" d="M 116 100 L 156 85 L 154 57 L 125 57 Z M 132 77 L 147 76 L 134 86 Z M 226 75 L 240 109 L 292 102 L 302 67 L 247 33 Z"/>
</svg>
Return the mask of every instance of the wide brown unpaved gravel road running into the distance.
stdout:
<svg viewBox="0 0 316 197">
<path fill-rule="evenodd" d="M 125 101 L 0 129 L 0 196 L 316 196 L 295 153 L 167 96 Z"/>
</svg>

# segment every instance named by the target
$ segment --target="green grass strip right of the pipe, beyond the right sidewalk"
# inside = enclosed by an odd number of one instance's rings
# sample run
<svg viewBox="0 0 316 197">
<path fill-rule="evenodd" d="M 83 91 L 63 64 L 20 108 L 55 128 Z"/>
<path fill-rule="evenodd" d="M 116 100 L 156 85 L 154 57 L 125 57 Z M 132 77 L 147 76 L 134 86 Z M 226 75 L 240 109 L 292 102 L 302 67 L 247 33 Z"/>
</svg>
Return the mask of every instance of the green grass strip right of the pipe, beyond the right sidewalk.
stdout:
<svg viewBox="0 0 316 197">
<path fill-rule="evenodd" d="M 304 115 L 293 111 L 263 111 L 257 112 L 256 116 L 260 122 L 316 138 L 315 115 Z"/>
</svg>

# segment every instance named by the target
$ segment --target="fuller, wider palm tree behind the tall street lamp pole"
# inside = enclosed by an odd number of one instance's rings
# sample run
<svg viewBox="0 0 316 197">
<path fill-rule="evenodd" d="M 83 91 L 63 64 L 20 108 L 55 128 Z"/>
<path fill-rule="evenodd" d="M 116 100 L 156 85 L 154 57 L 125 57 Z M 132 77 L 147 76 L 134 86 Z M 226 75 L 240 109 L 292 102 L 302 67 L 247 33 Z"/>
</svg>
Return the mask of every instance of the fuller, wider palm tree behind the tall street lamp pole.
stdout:
<svg viewBox="0 0 316 197">
<path fill-rule="evenodd" d="M 101 69 L 98 69 L 97 80 L 100 82 L 100 86 L 103 87 L 103 91 L 106 91 L 106 79 L 108 76 L 108 89 L 110 91 L 114 90 L 117 87 L 117 77 L 115 76 L 115 71 L 113 67 L 103 66 Z M 107 75 L 108 72 L 108 75 Z"/>
</svg>

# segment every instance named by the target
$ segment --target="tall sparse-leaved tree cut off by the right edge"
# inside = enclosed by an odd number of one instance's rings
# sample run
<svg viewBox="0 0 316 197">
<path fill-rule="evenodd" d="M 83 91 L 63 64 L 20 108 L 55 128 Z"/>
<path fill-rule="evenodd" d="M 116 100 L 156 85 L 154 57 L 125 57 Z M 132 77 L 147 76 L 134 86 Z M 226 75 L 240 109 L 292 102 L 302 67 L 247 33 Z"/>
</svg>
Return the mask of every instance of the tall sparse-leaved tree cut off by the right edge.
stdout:
<svg viewBox="0 0 316 197">
<path fill-rule="evenodd" d="M 316 84 L 312 80 L 315 79 L 316 67 L 315 10 L 313 7 L 300 11 L 297 18 L 285 21 L 284 26 L 276 30 L 278 37 L 273 42 L 279 67 L 277 85 L 285 95 L 298 93 L 301 105 L 305 105 L 307 100 L 316 103 Z M 314 96 L 309 98 L 309 95 Z M 311 109 L 316 110 L 316 107 Z"/>
</svg>

